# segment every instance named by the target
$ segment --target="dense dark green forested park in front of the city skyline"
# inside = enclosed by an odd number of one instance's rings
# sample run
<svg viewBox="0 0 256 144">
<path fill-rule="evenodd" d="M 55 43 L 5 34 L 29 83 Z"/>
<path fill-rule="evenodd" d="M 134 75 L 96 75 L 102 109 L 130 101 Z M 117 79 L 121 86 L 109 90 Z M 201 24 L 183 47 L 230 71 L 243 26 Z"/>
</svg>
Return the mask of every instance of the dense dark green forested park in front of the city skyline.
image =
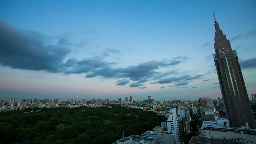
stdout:
<svg viewBox="0 0 256 144">
<path fill-rule="evenodd" d="M 165 121 L 152 111 L 112 108 L 31 108 L 0 113 L 0 144 L 111 144 Z M 27 113 L 25 113 L 27 112 Z"/>
</svg>

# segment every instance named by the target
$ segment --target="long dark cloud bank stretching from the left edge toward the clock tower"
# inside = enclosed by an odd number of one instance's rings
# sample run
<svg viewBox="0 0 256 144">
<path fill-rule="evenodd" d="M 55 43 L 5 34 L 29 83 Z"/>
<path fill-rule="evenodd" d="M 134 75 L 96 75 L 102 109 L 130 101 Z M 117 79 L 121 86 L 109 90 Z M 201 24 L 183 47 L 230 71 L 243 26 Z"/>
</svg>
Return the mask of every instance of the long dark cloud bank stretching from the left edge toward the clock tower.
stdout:
<svg viewBox="0 0 256 144">
<path fill-rule="evenodd" d="M 0 20 L 0 65 L 23 70 L 45 71 L 60 74 L 86 74 L 86 78 L 102 77 L 122 79 L 117 81 L 117 86 L 123 86 L 130 81 L 136 82 L 130 86 L 143 86 L 144 82 L 158 79 L 153 83 L 170 83 L 181 80 L 192 80 L 201 76 L 182 76 L 166 78 L 170 74 L 177 73 L 176 70 L 168 72 L 157 72 L 159 68 L 168 68 L 185 62 L 188 57 L 179 56 L 171 60 L 152 60 L 138 65 L 125 68 L 112 68 L 115 62 L 107 62 L 104 56 L 118 54 L 120 50 L 107 48 L 101 56 L 67 59 L 71 49 L 68 48 L 68 38 L 58 36 L 51 38 L 34 31 L 19 31 Z M 161 79 L 162 78 L 162 79 Z M 146 87 L 139 87 L 144 89 Z"/>
</svg>

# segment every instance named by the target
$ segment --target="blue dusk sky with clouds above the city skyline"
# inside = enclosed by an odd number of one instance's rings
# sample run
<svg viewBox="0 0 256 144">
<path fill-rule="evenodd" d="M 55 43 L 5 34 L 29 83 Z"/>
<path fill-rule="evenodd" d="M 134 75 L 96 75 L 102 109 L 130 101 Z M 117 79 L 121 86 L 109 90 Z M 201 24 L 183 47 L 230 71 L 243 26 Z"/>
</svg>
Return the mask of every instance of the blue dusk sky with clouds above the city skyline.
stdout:
<svg viewBox="0 0 256 144">
<path fill-rule="evenodd" d="M 0 99 L 221 97 L 213 13 L 237 51 L 251 99 L 255 6 L 254 0 L 0 0 Z"/>
</svg>

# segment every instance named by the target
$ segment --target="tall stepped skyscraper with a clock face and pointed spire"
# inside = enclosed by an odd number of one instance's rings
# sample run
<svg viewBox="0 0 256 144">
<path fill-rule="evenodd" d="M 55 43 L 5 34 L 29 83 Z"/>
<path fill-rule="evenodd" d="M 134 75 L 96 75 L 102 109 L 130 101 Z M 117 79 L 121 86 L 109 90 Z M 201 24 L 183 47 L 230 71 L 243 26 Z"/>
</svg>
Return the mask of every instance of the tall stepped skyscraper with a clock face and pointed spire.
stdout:
<svg viewBox="0 0 256 144">
<path fill-rule="evenodd" d="M 223 35 L 216 20 L 214 23 L 214 62 L 226 118 L 230 126 L 246 126 L 247 122 L 250 128 L 256 128 L 236 50 L 231 49 L 230 41 Z"/>
</svg>

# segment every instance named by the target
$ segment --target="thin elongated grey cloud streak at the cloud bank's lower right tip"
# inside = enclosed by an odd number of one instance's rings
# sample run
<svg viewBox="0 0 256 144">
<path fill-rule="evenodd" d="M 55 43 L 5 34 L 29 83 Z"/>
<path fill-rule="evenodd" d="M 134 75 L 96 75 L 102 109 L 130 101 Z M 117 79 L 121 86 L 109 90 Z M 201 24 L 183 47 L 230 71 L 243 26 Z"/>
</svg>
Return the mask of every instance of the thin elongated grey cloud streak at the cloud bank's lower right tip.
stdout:
<svg viewBox="0 0 256 144">
<path fill-rule="evenodd" d="M 170 77 L 170 78 L 163 78 L 158 80 L 157 82 L 150 82 L 151 84 L 168 84 L 171 82 L 179 82 L 181 80 L 193 80 L 193 79 L 199 79 L 203 75 L 196 75 L 194 77 L 190 75 L 180 76 L 180 77 Z"/>
</svg>

